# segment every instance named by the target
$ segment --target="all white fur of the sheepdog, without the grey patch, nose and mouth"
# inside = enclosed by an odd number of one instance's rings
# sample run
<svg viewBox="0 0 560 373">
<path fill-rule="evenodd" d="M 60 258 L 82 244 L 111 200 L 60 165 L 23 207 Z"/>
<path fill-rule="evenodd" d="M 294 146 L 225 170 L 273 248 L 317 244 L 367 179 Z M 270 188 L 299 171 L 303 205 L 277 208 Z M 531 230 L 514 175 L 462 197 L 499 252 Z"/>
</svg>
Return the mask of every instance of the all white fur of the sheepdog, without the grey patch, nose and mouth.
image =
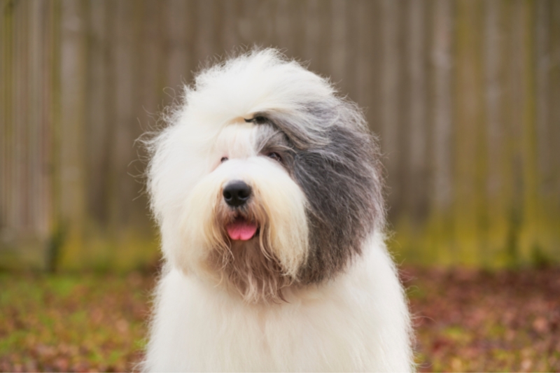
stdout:
<svg viewBox="0 0 560 373">
<path fill-rule="evenodd" d="M 258 126 L 244 119 L 267 111 L 296 115 L 313 138 L 325 128 L 302 111 L 300 103 L 310 99 L 335 100 L 335 91 L 274 50 L 251 52 L 200 73 L 186 87 L 184 104 L 168 113 L 169 127 L 148 144 L 148 187 L 165 267 L 144 370 L 413 368 L 407 304 L 382 225 L 343 272 L 297 285 L 309 253 L 308 202 L 286 169 L 255 150 Z M 230 160 L 221 163 L 226 155 Z M 269 239 L 267 255 L 294 283 L 279 302 L 260 297 L 251 281 L 240 294 L 207 263 L 215 248 L 228 255 L 215 213 L 223 186 L 235 178 L 251 181 L 256 216 L 267 227 L 259 239 Z"/>
</svg>

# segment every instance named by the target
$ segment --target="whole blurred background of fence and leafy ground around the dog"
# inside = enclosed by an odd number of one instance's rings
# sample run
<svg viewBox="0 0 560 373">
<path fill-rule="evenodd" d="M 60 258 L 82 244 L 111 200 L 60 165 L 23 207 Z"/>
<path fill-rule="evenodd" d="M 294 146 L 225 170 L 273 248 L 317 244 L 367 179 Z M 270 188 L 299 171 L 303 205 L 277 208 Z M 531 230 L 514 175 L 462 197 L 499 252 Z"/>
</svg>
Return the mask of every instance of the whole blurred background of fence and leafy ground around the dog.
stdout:
<svg viewBox="0 0 560 373">
<path fill-rule="evenodd" d="M 559 0 L 0 0 L 0 371 L 141 360 L 137 139 L 253 45 L 379 136 L 419 371 L 560 372 Z"/>
</svg>

